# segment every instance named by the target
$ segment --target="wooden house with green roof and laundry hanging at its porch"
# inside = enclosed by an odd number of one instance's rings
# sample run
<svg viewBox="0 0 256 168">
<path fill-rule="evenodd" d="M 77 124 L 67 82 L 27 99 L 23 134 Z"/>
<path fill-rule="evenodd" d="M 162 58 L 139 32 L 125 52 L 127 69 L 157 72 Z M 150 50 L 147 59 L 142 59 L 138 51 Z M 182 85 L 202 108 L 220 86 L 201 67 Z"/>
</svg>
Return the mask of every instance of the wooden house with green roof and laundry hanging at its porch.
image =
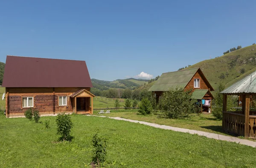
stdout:
<svg viewBox="0 0 256 168">
<path fill-rule="evenodd" d="M 163 92 L 176 87 L 192 90 L 192 97 L 201 104 L 201 112 L 211 112 L 213 99 L 211 91 L 214 89 L 200 68 L 163 73 L 149 91 L 153 92 L 158 100 Z M 209 106 L 204 106 L 203 100 L 209 101 Z"/>
</svg>

